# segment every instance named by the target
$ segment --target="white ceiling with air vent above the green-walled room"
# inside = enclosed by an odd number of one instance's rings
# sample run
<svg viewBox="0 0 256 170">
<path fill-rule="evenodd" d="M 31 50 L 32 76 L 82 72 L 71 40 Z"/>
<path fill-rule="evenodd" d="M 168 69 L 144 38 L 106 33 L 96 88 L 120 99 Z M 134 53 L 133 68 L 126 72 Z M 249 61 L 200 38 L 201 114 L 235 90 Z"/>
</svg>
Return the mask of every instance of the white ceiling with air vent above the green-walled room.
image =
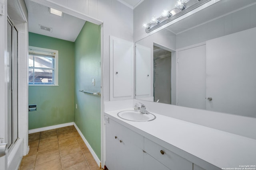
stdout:
<svg viewBox="0 0 256 170">
<path fill-rule="evenodd" d="M 76 41 L 86 21 L 64 14 L 63 17 L 50 14 L 48 7 L 25 0 L 28 9 L 28 31 L 67 41 Z M 52 32 L 40 29 L 40 25 L 52 28 Z"/>
</svg>

